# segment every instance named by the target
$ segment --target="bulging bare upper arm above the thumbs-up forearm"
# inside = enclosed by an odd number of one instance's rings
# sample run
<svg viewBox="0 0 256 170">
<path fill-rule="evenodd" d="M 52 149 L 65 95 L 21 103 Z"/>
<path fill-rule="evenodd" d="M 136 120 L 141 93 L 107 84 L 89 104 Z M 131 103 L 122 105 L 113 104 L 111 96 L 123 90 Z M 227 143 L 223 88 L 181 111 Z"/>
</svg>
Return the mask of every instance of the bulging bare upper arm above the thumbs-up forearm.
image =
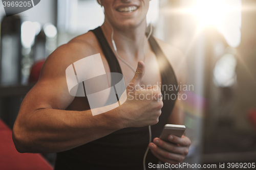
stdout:
<svg viewBox="0 0 256 170">
<path fill-rule="evenodd" d="M 72 64 L 63 48 L 57 49 L 42 66 L 40 78 L 25 96 L 20 113 L 33 112 L 38 109 L 66 109 L 74 100 L 69 94 L 66 81 L 66 68 Z"/>
</svg>

